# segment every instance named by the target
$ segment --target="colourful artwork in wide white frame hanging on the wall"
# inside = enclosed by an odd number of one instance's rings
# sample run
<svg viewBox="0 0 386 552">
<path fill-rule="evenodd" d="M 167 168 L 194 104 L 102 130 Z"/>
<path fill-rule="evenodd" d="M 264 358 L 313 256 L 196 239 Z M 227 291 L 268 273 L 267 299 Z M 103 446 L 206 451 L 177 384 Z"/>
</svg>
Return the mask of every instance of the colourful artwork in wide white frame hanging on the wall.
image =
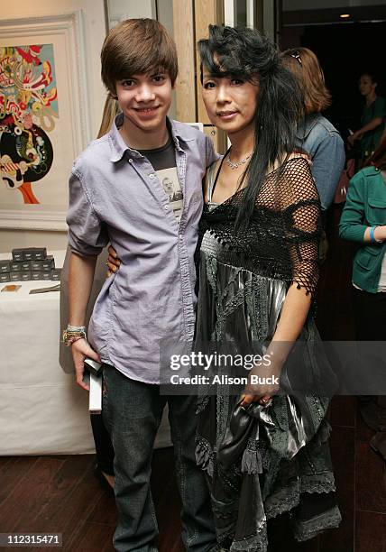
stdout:
<svg viewBox="0 0 386 552">
<path fill-rule="evenodd" d="M 82 11 L 5 20 L 0 36 L 0 228 L 65 231 L 91 138 Z"/>
</svg>

